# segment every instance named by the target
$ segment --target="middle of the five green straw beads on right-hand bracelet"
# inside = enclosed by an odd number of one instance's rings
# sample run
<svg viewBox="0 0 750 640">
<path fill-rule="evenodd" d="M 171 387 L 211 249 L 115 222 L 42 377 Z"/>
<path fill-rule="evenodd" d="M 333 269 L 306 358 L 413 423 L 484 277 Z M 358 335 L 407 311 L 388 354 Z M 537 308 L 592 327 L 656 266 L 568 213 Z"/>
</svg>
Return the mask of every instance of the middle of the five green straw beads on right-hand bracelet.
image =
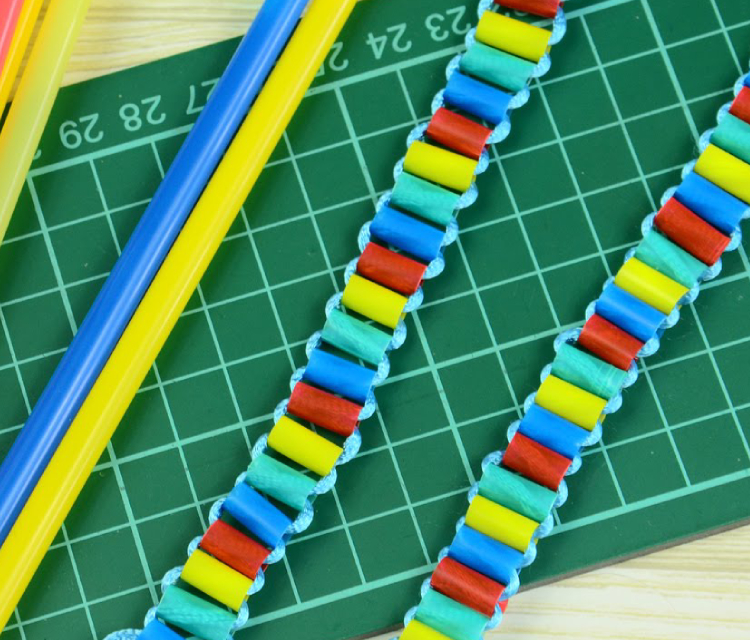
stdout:
<svg viewBox="0 0 750 640">
<path fill-rule="evenodd" d="M 565 343 L 552 362 L 552 375 L 609 400 L 622 388 L 628 372 Z"/>
</svg>

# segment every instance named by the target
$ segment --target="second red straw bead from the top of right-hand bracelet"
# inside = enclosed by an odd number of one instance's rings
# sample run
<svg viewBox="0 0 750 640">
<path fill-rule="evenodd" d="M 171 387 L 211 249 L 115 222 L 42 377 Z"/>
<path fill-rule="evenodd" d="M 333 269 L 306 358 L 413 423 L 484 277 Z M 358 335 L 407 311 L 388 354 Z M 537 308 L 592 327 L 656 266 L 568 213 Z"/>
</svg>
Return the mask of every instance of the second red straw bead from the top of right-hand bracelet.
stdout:
<svg viewBox="0 0 750 640">
<path fill-rule="evenodd" d="M 654 220 L 656 228 L 672 242 L 709 267 L 724 253 L 730 238 L 694 214 L 675 198 L 670 198 Z"/>
</svg>

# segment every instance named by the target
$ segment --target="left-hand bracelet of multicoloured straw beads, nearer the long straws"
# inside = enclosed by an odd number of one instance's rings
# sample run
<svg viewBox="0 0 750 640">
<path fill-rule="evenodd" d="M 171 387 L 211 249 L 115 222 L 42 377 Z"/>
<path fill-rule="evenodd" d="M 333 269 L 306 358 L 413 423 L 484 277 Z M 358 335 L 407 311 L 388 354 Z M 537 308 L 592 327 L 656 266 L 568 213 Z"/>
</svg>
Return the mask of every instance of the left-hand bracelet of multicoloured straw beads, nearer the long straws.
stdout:
<svg viewBox="0 0 750 640">
<path fill-rule="evenodd" d="M 496 13 L 493 3 L 552 18 L 552 30 Z M 326 304 L 325 325 L 308 341 L 308 363 L 292 376 L 274 427 L 256 442 L 229 495 L 211 507 L 210 526 L 190 543 L 185 565 L 164 576 L 161 601 L 144 630 L 108 640 L 179 640 L 175 629 L 226 640 L 247 622 L 246 600 L 263 587 L 265 567 L 310 526 L 315 497 L 333 488 L 336 467 L 357 454 L 359 422 L 375 412 L 373 388 L 388 376 L 388 352 L 406 338 L 405 314 L 421 305 L 422 281 L 442 272 L 443 250 L 458 234 L 457 214 L 476 200 L 475 176 L 489 164 L 486 145 L 507 137 L 510 112 L 549 70 L 550 46 L 566 30 L 561 5 L 481 0 L 467 51 L 448 65 L 430 122 L 409 134 L 395 186 L 360 231 L 361 255 L 345 270 L 343 293 Z M 297 512 L 293 518 L 289 509 Z"/>
</svg>

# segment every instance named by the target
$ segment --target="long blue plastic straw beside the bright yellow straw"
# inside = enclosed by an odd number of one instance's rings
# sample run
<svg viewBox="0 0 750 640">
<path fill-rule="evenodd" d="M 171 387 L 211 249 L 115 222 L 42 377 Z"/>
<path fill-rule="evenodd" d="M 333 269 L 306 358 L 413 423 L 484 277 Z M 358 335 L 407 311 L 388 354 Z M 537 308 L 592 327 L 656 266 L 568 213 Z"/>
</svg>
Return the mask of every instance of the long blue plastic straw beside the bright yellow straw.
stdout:
<svg viewBox="0 0 750 640">
<path fill-rule="evenodd" d="M 0 544 L 78 413 L 308 0 L 266 0 L 0 465 Z"/>
</svg>

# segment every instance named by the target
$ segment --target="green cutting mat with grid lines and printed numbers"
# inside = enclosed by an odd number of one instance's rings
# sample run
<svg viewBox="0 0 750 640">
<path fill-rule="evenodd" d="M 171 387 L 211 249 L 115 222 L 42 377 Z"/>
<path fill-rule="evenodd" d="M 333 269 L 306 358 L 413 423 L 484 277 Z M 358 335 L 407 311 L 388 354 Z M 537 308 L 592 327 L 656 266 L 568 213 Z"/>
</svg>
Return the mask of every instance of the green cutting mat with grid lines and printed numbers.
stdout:
<svg viewBox="0 0 750 640">
<path fill-rule="evenodd" d="M 475 0 L 370 0 L 246 203 L 2 640 L 140 626 L 304 363 L 356 234 L 429 115 Z M 397 623 L 552 359 L 678 181 L 750 53 L 750 3 L 570 2 L 570 33 L 408 320 L 364 448 L 238 638 Z M 236 42 L 63 90 L 0 248 L 0 452 L 81 323 Z M 524 584 L 750 516 L 745 249 L 668 333 Z"/>
</svg>

